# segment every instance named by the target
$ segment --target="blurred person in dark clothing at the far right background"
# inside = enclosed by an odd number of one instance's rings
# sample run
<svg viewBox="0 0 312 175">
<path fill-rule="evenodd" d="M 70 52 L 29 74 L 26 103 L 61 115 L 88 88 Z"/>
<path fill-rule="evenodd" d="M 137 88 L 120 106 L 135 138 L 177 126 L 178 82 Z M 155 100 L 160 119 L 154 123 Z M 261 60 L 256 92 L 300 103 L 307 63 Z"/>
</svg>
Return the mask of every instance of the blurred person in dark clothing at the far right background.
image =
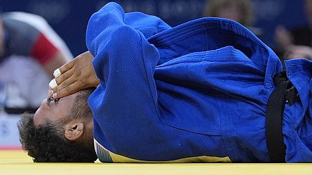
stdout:
<svg viewBox="0 0 312 175">
<path fill-rule="evenodd" d="M 312 0 L 304 1 L 304 10 L 309 23 L 291 31 L 282 25 L 275 30 L 277 50 L 282 52 L 284 59 L 312 60 Z"/>
</svg>

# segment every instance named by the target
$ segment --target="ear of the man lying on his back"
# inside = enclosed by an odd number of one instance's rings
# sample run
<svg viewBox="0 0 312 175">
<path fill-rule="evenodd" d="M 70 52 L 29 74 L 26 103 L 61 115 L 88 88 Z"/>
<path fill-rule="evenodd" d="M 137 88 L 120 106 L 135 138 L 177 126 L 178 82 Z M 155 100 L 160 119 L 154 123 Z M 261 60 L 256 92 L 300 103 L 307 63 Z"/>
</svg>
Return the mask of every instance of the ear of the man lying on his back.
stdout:
<svg viewBox="0 0 312 175">
<path fill-rule="evenodd" d="M 84 133 L 84 123 L 82 122 L 73 122 L 67 123 L 65 126 L 64 136 L 70 141 L 75 141 L 77 138 L 80 138 Z"/>
</svg>

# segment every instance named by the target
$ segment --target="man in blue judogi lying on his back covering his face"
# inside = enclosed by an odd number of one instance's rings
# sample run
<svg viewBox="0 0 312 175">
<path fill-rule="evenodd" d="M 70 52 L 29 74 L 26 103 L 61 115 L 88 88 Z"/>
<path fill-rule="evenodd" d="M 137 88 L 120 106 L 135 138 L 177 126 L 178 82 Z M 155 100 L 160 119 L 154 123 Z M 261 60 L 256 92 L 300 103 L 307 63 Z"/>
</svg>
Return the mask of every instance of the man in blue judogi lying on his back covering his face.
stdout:
<svg viewBox="0 0 312 175">
<path fill-rule="evenodd" d="M 312 62 L 282 72 L 239 23 L 171 28 L 108 3 L 86 45 L 19 122 L 35 162 L 312 162 Z"/>
</svg>

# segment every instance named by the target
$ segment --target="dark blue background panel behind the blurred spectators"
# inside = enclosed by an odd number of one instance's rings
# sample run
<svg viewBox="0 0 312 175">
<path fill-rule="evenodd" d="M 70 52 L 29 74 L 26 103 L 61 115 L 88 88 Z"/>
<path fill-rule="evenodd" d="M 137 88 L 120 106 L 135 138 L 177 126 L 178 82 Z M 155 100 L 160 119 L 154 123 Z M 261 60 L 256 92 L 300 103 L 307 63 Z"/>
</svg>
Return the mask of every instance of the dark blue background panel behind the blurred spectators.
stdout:
<svg viewBox="0 0 312 175">
<path fill-rule="evenodd" d="M 235 1 L 235 0 L 233 0 Z M 66 41 L 74 55 L 86 50 L 85 30 L 93 12 L 109 1 L 77 0 L 5 0 L 0 1 L 0 11 L 24 11 L 39 14 L 52 25 Z M 116 1 L 127 12 L 141 11 L 154 14 L 169 25 L 178 25 L 202 17 L 205 0 L 127 0 Z M 253 0 L 255 26 L 263 31 L 262 40 L 274 46 L 275 26 L 282 24 L 294 28 L 306 23 L 303 0 Z"/>
</svg>

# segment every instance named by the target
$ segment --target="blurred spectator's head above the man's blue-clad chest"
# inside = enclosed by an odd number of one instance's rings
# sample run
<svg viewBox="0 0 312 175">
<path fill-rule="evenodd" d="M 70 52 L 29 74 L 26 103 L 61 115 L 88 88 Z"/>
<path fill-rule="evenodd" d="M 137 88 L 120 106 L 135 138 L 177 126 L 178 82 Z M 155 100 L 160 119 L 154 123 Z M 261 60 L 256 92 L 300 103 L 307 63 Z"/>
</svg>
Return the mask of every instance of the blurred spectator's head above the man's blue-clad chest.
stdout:
<svg viewBox="0 0 312 175">
<path fill-rule="evenodd" d="M 253 6 L 249 0 L 208 0 L 203 11 L 205 17 L 232 19 L 241 23 L 261 38 L 259 28 L 252 27 L 254 21 Z"/>
</svg>

